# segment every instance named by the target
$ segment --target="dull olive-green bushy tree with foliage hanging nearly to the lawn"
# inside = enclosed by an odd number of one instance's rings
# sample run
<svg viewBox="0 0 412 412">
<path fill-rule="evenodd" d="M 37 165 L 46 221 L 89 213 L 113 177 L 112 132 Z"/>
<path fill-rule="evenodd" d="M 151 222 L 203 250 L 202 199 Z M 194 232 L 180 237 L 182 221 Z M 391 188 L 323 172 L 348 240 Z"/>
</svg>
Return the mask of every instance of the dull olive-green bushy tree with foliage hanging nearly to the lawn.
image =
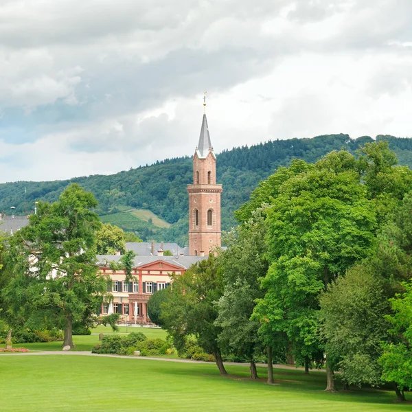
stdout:
<svg viewBox="0 0 412 412">
<path fill-rule="evenodd" d="M 348 385 L 382 382 L 381 342 L 387 341 L 389 301 L 381 279 L 367 262 L 351 268 L 321 295 L 325 352 Z"/>
</svg>

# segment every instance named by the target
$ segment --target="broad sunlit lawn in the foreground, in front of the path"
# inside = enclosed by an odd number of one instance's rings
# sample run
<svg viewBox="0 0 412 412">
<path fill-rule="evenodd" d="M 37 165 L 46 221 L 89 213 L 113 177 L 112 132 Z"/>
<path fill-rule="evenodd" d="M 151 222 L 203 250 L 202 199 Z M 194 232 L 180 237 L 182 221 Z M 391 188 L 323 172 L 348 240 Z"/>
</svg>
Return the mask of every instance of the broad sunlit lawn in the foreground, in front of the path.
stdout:
<svg viewBox="0 0 412 412">
<path fill-rule="evenodd" d="M 0 356 L 1 411 L 411 411 L 393 392 L 325 393 L 325 374 L 275 369 L 277 385 L 247 367 L 98 356 Z M 264 369 L 259 369 L 265 377 Z"/>
</svg>

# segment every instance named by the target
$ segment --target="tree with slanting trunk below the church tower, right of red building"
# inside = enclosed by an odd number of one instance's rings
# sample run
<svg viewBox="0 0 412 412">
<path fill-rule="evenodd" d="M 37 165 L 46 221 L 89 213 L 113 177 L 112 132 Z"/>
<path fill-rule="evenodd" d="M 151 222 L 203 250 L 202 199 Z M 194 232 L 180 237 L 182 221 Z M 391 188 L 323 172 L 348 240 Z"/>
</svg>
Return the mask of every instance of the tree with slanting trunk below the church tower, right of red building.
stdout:
<svg viewBox="0 0 412 412">
<path fill-rule="evenodd" d="M 172 336 L 178 350 L 184 349 L 190 336 L 196 336 L 203 350 L 214 354 L 220 374 L 227 374 L 218 341 L 222 330 L 215 323 L 218 317 L 216 301 L 223 292 L 216 258 L 210 255 L 183 275 L 172 278 L 172 287 L 167 289 L 168 299 L 161 305 L 163 328 Z"/>
</svg>

